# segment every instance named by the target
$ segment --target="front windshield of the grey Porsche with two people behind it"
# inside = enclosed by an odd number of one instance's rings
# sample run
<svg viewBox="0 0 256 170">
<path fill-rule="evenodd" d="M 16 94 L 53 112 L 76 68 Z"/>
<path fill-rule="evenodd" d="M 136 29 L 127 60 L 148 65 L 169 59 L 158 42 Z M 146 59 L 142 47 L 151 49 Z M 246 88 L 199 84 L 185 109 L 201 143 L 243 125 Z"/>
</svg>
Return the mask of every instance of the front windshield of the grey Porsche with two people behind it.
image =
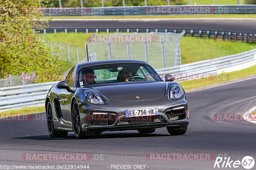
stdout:
<svg viewBox="0 0 256 170">
<path fill-rule="evenodd" d="M 163 81 L 151 66 L 143 63 L 114 63 L 82 67 L 77 74 L 78 87 L 127 81 Z"/>
</svg>

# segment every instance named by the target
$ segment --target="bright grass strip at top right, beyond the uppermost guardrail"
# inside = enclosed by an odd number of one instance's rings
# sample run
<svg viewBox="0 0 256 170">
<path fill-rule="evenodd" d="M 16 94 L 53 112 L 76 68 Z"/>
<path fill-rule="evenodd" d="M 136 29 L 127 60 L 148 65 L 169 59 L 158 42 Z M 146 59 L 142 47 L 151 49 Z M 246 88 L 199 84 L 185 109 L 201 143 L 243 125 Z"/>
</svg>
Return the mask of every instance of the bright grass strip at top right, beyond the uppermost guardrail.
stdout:
<svg viewBox="0 0 256 170">
<path fill-rule="evenodd" d="M 190 1 L 185 0 L 186 4 L 189 5 Z M 207 5 L 207 4 L 213 4 L 213 0 L 191 0 L 192 5 Z M 222 5 L 222 4 L 228 4 L 228 5 L 237 5 L 237 0 L 215 0 L 215 4 Z M 240 0 L 240 4 L 245 4 L 244 0 Z"/>
</svg>

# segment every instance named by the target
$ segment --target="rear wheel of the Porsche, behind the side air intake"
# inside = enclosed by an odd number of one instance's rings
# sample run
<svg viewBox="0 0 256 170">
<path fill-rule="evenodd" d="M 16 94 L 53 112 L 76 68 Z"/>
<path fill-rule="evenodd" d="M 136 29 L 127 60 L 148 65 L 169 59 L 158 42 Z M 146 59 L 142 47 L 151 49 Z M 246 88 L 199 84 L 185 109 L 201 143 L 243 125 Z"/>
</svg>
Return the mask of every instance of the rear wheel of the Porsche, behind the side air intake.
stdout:
<svg viewBox="0 0 256 170">
<path fill-rule="evenodd" d="M 47 129 L 48 129 L 49 135 L 52 138 L 67 137 L 67 135 L 68 135 L 67 131 L 55 131 L 55 129 L 54 129 L 53 112 L 52 112 L 52 105 L 51 105 L 50 101 L 47 103 L 46 116 L 47 116 Z"/>
</svg>

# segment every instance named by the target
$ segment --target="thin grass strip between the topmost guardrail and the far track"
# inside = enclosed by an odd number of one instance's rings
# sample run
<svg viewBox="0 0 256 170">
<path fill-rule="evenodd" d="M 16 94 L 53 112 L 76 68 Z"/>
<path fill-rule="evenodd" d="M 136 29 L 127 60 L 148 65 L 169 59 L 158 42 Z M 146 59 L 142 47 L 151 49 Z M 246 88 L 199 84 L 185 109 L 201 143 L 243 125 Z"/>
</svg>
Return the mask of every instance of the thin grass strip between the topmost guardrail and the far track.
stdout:
<svg viewBox="0 0 256 170">
<path fill-rule="evenodd" d="M 43 17 L 47 19 L 49 17 Z M 54 19 L 126 19 L 126 18 L 256 18 L 255 14 L 197 14 L 197 15 L 126 15 L 126 16 L 52 16 Z"/>
</svg>

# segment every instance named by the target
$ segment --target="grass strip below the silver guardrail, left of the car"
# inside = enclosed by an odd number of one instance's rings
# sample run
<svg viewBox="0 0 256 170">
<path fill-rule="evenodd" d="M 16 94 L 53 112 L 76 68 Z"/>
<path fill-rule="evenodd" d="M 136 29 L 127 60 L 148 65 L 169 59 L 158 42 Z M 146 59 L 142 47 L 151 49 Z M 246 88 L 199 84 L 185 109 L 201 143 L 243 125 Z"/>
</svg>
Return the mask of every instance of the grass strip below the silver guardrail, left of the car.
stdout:
<svg viewBox="0 0 256 170">
<path fill-rule="evenodd" d="M 43 112 L 43 111 L 45 111 L 44 106 L 25 107 L 25 108 L 18 109 L 18 110 L 9 110 L 9 111 L 0 112 L 0 117 L 10 117 L 11 115 L 12 116 L 18 116 L 18 115 L 38 113 L 38 112 Z"/>
</svg>

